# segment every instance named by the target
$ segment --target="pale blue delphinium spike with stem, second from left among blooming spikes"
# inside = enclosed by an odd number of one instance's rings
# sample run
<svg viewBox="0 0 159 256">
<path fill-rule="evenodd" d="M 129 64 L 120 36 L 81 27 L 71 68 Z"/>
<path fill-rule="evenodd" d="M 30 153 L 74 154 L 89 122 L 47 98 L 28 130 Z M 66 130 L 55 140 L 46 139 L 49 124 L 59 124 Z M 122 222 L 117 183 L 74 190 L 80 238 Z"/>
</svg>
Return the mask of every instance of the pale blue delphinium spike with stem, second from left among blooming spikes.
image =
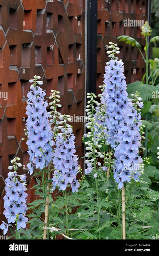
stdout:
<svg viewBox="0 0 159 256">
<path fill-rule="evenodd" d="M 69 115 L 60 115 L 59 126 L 60 132 L 56 137 L 55 152 L 53 158 L 54 174 L 53 189 L 56 187 L 63 191 L 66 208 L 66 227 L 68 235 L 68 207 L 67 207 L 67 186 L 71 186 L 72 192 L 77 192 L 80 183 L 76 180 L 78 172 L 78 157 L 75 155 L 74 135 L 72 126 L 67 122 L 70 121 Z"/>
</svg>

